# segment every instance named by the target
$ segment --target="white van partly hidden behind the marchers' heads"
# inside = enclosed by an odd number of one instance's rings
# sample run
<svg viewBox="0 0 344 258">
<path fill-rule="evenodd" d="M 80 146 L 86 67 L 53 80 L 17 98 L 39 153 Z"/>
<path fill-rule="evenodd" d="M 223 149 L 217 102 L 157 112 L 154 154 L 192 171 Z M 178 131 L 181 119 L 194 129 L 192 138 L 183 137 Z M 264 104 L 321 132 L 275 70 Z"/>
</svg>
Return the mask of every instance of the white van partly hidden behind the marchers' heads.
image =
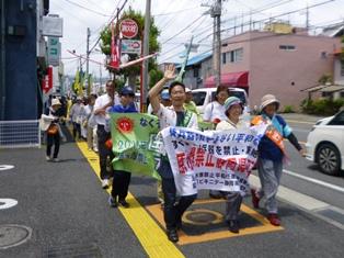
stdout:
<svg viewBox="0 0 344 258">
<path fill-rule="evenodd" d="M 192 90 L 193 92 L 193 101 L 197 105 L 197 110 L 200 114 L 204 113 L 205 108 L 208 103 L 215 100 L 217 88 L 202 88 Z M 232 96 L 238 97 L 242 103 L 244 104 L 243 113 L 250 113 L 250 105 L 248 94 L 243 89 L 240 88 L 228 88 Z"/>
</svg>

